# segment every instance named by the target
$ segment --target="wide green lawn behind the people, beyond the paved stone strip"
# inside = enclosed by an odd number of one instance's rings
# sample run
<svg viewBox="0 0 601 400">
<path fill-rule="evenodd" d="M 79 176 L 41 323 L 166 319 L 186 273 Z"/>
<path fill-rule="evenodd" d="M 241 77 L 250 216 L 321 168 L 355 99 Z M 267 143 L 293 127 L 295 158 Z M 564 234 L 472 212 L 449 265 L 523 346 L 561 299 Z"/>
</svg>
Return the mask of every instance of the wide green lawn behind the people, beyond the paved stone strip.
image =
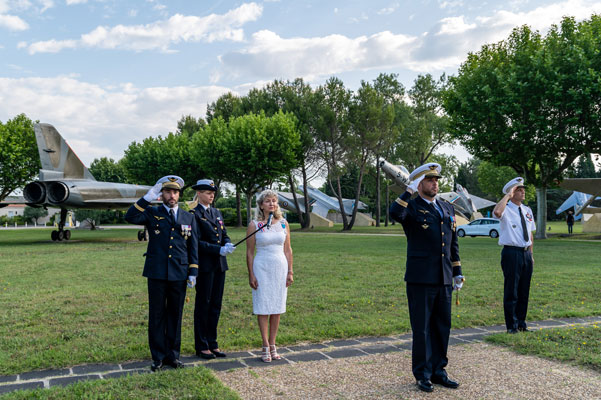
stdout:
<svg viewBox="0 0 601 400">
<path fill-rule="evenodd" d="M 401 232 L 399 225 L 389 229 Z M 230 229 L 234 241 L 243 235 Z M 74 231 L 71 241 L 53 243 L 49 230 L 0 231 L 0 375 L 149 359 L 146 243 L 135 236 L 129 229 Z M 404 237 L 293 232 L 292 248 L 295 283 L 280 344 L 409 331 Z M 244 250 L 229 257 L 219 325 L 226 351 L 260 346 Z M 529 319 L 601 314 L 600 250 L 601 242 L 536 242 Z M 462 238 L 460 254 L 466 284 L 461 305 L 453 306 L 453 327 L 501 324 L 496 240 Z M 189 294 L 184 354 L 194 353 Z"/>
</svg>

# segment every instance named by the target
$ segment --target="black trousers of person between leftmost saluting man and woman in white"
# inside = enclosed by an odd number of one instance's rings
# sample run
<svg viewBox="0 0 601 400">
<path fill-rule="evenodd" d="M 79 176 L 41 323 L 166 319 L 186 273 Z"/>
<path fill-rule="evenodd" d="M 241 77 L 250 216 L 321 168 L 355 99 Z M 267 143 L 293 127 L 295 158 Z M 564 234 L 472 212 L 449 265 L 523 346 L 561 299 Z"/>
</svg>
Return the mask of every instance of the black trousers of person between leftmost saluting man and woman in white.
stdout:
<svg viewBox="0 0 601 400">
<path fill-rule="evenodd" d="M 194 303 L 194 346 L 197 353 L 219 348 L 217 324 L 224 284 L 225 271 L 198 272 Z"/>
</svg>

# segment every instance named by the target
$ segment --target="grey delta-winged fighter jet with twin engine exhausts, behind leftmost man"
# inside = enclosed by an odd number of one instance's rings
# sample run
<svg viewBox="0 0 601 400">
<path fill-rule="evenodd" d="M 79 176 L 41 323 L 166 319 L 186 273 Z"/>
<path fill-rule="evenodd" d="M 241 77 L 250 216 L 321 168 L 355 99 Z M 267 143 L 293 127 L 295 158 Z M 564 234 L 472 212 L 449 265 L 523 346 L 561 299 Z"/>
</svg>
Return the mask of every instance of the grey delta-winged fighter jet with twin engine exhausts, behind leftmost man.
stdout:
<svg viewBox="0 0 601 400">
<path fill-rule="evenodd" d="M 69 240 L 65 230 L 67 211 L 83 209 L 126 209 L 142 197 L 150 186 L 125 183 L 99 182 L 88 171 L 54 126 L 35 124 L 35 138 L 42 169 L 37 181 L 23 189 L 22 203 L 32 207 L 61 209 L 58 230 L 53 230 L 54 241 Z M 3 202 L 1 206 L 14 204 Z M 145 231 L 138 232 L 138 240 L 147 239 Z"/>
</svg>

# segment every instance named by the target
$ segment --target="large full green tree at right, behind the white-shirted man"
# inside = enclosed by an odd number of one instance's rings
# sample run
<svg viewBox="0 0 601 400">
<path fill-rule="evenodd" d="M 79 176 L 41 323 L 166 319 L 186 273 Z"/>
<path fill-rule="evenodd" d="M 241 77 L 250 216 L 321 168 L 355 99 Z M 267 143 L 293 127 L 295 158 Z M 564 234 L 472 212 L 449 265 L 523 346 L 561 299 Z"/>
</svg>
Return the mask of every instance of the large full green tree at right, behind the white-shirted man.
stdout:
<svg viewBox="0 0 601 400">
<path fill-rule="evenodd" d="M 547 188 L 582 154 L 601 151 L 601 17 L 564 18 L 546 37 L 523 26 L 470 54 L 450 78 L 451 132 L 470 152 L 536 186 L 537 238 Z"/>
</svg>

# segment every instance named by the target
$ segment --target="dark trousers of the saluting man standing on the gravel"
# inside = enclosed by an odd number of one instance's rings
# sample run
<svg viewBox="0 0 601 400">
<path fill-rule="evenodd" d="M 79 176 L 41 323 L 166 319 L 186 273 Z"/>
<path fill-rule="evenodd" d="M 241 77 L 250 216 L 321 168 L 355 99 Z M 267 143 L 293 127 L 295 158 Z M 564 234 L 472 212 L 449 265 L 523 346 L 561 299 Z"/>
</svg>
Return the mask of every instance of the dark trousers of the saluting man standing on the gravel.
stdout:
<svg viewBox="0 0 601 400">
<path fill-rule="evenodd" d="M 416 380 L 446 376 L 451 332 L 451 285 L 407 283 L 409 318 L 413 331 L 411 364 Z"/>
</svg>

